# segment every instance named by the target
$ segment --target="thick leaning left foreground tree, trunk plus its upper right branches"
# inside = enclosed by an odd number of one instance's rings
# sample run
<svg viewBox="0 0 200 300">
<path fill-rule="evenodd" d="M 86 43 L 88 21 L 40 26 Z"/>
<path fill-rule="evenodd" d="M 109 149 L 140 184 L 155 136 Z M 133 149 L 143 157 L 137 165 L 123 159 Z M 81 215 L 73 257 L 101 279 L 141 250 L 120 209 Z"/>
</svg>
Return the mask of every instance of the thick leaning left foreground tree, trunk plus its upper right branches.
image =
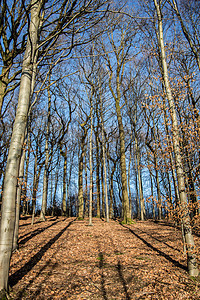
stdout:
<svg viewBox="0 0 200 300">
<path fill-rule="evenodd" d="M 40 48 L 42 59 L 56 43 L 61 34 L 64 35 L 68 33 L 68 36 L 70 35 L 73 37 L 76 32 L 80 33 L 81 31 L 85 31 L 86 28 L 90 28 L 92 25 L 96 24 L 99 20 L 99 14 L 100 18 L 102 16 L 102 12 L 99 13 L 98 9 L 104 4 L 101 1 L 95 3 L 94 1 L 81 1 L 81 3 L 79 3 L 77 0 L 70 3 L 68 1 L 57 1 L 55 4 L 53 3 L 52 6 L 53 15 L 45 15 L 46 11 L 44 8 L 46 3 L 47 1 L 45 0 L 32 0 L 29 6 L 31 18 L 29 14 L 27 14 L 29 25 L 28 41 L 23 58 L 18 107 L 13 126 L 3 188 L 0 236 L 0 291 L 3 291 L 2 293 L 8 289 L 8 272 L 13 243 L 15 198 L 19 174 L 19 162 L 24 143 L 32 91 L 32 78 L 35 75 L 35 65 L 38 61 L 38 50 Z M 41 14 L 42 12 L 43 14 Z M 82 25 L 81 22 L 79 22 L 81 18 Z M 76 28 L 74 26 L 75 20 L 77 21 Z M 43 35 L 39 34 L 42 31 L 42 25 L 47 33 L 46 35 L 44 34 L 44 39 L 42 39 Z M 51 31 L 48 32 L 47 29 L 50 28 L 50 26 Z M 74 46 L 73 40 L 74 39 L 72 38 L 72 43 L 70 43 L 69 47 L 66 47 L 68 52 L 71 51 Z"/>
</svg>

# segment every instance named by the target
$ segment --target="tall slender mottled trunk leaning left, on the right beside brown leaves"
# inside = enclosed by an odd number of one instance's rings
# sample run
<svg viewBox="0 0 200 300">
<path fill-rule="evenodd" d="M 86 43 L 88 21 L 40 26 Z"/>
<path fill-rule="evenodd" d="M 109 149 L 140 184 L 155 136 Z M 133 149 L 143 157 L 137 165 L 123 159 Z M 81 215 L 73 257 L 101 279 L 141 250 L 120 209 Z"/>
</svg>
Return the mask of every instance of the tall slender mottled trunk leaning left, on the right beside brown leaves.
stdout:
<svg viewBox="0 0 200 300">
<path fill-rule="evenodd" d="M 157 0 L 154 0 L 154 4 L 156 8 L 157 17 L 158 17 L 158 31 L 159 31 L 158 43 L 159 43 L 159 48 L 161 53 L 163 80 L 164 80 L 166 96 L 169 103 L 169 111 L 172 120 L 172 142 L 174 148 L 176 173 L 177 173 L 178 189 L 179 189 L 179 196 L 180 196 L 180 207 L 182 210 L 182 222 L 183 222 L 183 229 L 184 229 L 184 235 L 186 240 L 188 272 L 191 276 L 198 276 L 199 271 L 198 271 L 196 254 L 195 254 L 195 244 L 192 235 L 192 228 L 190 224 L 190 216 L 189 216 L 189 210 L 187 204 L 187 195 L 185 190 L 185 180 L 184 180 L 184 172 L 183 172 L 182 157 L 181 157 L 180 142 L 179 142 L 180 136 L 179 136 L 178 121 L 177 121 L 177 115 L 175 110 L 175 103 L 174 103 L 174 99 L 170 87 L 168 67 L 167 67 L 167 61 L 165 55 L 162 14 L 160 9 L 160 4 L 157 3 Z"/>
</svg>

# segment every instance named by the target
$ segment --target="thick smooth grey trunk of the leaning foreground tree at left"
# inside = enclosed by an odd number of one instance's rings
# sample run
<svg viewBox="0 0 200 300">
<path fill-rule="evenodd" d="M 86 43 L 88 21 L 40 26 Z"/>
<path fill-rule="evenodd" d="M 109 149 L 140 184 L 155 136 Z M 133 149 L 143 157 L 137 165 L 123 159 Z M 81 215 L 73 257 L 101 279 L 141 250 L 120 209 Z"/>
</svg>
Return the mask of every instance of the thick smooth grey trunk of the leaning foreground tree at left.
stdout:
<svg viewBox="0 0 200 300">
<path fill-rule="evenodd" d="M 10 148 L 7 159 L 1 219 L 0 235 L 0 291 L 8 289 L 8 273 L 13 245 L 15 224 L 16 187 L 19 176 L 19 163 L 27 124 L 31 95 L 33 61 L 38 41 L 39 13 L 42 1 L 31 1 L 31 22 L 29 38 L 22 65 L 18 107 L 13 126 Z M 31 39 L 31 42 L 30 42 Z"/>
</svg>

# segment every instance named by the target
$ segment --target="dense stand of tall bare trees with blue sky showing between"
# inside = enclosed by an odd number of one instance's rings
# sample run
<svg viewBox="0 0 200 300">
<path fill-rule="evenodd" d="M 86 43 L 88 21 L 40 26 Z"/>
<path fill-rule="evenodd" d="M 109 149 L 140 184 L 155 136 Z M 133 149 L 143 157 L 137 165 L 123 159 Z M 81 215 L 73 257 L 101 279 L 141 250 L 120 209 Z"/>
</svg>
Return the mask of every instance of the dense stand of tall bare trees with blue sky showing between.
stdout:
<svg viewBox="0 0 200 300">
<path fill-rule="evenodd" d="M 20 214 L 168 218 L 197 276 L 200 2 L 1 2 L 0 289 Z"/>
</svg>

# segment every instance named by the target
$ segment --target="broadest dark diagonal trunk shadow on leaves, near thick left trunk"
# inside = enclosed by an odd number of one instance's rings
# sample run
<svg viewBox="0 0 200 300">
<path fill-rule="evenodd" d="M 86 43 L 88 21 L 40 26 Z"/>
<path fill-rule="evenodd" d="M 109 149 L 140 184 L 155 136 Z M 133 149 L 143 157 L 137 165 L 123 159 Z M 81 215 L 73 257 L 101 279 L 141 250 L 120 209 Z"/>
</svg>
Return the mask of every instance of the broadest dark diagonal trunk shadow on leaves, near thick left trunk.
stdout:
<svg viewBox="0 0 200 300">
<path fill-rule="evenodd" d="M 72 220 L 57 235 L 49 240 L 25 265 L 9 277 L 9 285 L 13 287 L 41 260 L 46 251 L 62 236 L 67 228 L 74 222 Z"/>
</svg>

